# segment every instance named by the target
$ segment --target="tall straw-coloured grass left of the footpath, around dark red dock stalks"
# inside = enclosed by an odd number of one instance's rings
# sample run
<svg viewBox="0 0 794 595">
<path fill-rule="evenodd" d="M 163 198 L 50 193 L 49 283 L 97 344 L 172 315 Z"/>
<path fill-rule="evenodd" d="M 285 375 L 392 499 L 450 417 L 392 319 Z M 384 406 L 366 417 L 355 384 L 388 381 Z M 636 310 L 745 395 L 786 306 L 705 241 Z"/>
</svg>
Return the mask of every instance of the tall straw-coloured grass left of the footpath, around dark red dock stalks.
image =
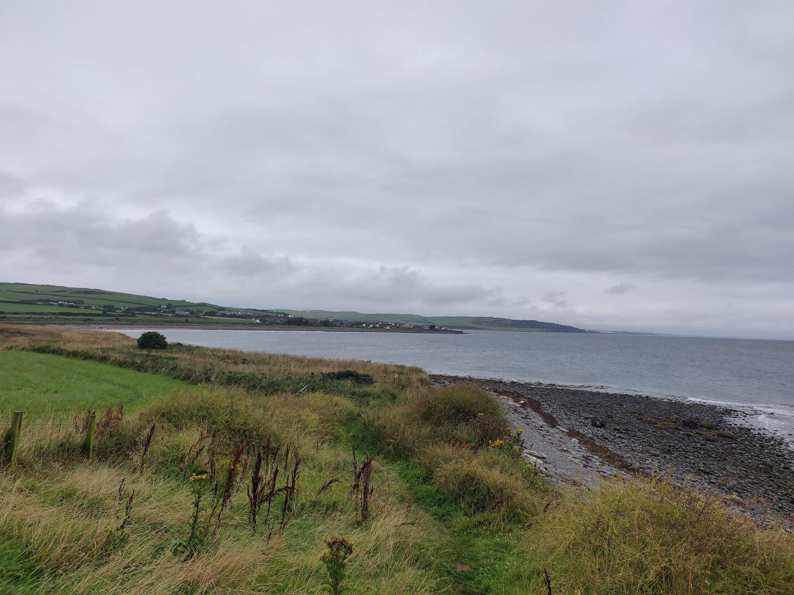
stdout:
<svg viewBox="0 0 794 595">
<path fill-rule="evenodd" d="M 239 409 L 229 409 L 232 403 Z M 354 592 L 441 593 L 449 583 L 431 553 L 439 549 L 437 533 L 429 520 L 405 508 L 407 493 L 394 474 L 374 471 L 380 489 L 372 492 L 367 522 L 360 520 L 349 496 L 350 455 L 328 436 L 341 431 L 352 407 L 322 393 L 272 397 L 264 404 L 236 389 L 168 396 L 98 436 L 92 463 L 67 451 L 42 457 L 31 436 L 17 474 L 0 475 L 0 541 L 25 552 L 34 568 L 29 576 L 40 577 L 37 593 L 321 593 L 317 556 L 334 534 L 356 543 L 349 577 Z M 213 408 L 217 417 L 207 416 Z M 141 474 L 138 449 L 150 420 L 158 431 Z M 217 447 L 194 459 L 195 444 L 211 432 L 219 436 Z M 288 455 L 291 461 L 300 453 L 299 476 L 285 474 L 294 487 L 290 522 L 283 531 L 276 527 L 272 539 L 252 533 L 240 482 L 217 536 L 183 558 L 174 545 L 191 525 L 185 466 L 209 470 L 212 456 L 221 469 L 230 445 L 250 440 L 251 446 L 264 436 L 283 444 L 282 453 L 295 453 Z M 64 437 L 78 441 L 79 429 Z M 226 477 L 218 471 L 219 483 Z M 321 491 L 330 478 L 339 481 Z M 118 532 L 122 479 L 135 497 Z M 276 486 L 282 485 L 279 476 Z M 277 491 L 274 498 L 279 515 L 284 497 Z M 202 506 L 200 519 L 206 511 Z M 3 578 L 0 573 L 0 592 Z"/>
</svg>

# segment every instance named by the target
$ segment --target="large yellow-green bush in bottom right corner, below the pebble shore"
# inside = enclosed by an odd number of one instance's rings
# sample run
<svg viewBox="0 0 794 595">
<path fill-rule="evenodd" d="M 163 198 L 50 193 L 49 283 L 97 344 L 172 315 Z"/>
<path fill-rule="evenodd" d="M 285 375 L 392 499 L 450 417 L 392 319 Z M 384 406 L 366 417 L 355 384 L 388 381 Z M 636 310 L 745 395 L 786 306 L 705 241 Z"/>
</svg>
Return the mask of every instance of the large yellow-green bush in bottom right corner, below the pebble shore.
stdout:
<svg viewBox="0 0 794 595">
<path fill-rule="evenodd" d="M 791 593 L 794 536 L 669 480 L 572 489 L 538 528 L 565 593 Z"/>
</svg>

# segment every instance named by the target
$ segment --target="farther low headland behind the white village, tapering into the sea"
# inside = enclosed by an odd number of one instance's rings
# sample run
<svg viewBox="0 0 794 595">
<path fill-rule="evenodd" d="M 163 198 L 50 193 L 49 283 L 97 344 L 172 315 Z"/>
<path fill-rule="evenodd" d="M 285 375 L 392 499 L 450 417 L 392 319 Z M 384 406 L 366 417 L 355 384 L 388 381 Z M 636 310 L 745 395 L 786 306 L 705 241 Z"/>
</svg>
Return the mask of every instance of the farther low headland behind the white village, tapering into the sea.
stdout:
<svg viewBox="0 0 794 595">
<path fill-rule="evenodd" d="M 311 318 L 336 318 L 342 321 L 364 322 L 384 321 L 412 324 L 437 324 L 463 330 L 490 331 L 534 331 L 534 332 L 588 332 L 582 328 L 541 321 L 515 321 L 511 318 L 472 317 L 472 316 L 419 316 L 418 314 L 364 314 L 360 312 L 334 312 L 332 310 L 285 310 L 279 312 Z"/>
</svg>

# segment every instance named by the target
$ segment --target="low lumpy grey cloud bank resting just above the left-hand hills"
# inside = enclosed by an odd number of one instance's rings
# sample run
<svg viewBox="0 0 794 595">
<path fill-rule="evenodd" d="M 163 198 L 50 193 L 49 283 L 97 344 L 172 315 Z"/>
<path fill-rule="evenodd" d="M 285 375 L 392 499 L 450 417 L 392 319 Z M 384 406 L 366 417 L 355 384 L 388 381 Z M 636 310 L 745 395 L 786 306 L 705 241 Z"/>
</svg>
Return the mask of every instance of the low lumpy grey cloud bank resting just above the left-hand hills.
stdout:
<svg viewBox="0 0 794 595">
<path fill-rule="evenodd" d="M 179 288 L 179 296 L 186 291 L 195 300 L 220 296 L 249 307 L 322 307 L 318 302 L 327 296 L 365 309 L 411 305 L 440 312 L 505 302 L 501 290 L 434 282 L 410 267 L 310 262 L 263 255 L 247 246 L 229 253 L 225 240 L 179 223 L 164 210 L 118 221 L 88 203 L 57 208 L 41 202 L 18 212 L 0 205 L 0 249 L 6 255 L 3 267 L 40 274 L 37 278 L 44 278 L 44 271 L 59 271 L 139 290 L 128 285 L 130 268 L 140 275 L 137 282 L 157 287 L 157 294 L 170 285 Z M 16 278 L 5 268 L 0 274 Z"/>
</svg>

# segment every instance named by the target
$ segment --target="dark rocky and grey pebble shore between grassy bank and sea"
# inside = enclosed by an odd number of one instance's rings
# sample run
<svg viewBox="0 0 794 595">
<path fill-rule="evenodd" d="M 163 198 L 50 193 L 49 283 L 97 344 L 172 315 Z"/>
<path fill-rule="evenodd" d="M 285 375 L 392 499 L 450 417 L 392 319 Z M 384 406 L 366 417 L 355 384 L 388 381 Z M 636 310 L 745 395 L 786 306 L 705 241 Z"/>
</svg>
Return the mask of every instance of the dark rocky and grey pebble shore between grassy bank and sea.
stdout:
<svg viewBox="0 0 794 595">
<path fill-rule="evenodd" d="M 741 413 L 734 409 L 521 382 L 433 379 L 476 383 L 502 397 L 511 423 L 524 429 L 525 456 L 557 481 L 668 473 L 676 482 L 715 490 L 753 516 L 794 514 L 794 452 L 737 423 Z"/>
</svg>

